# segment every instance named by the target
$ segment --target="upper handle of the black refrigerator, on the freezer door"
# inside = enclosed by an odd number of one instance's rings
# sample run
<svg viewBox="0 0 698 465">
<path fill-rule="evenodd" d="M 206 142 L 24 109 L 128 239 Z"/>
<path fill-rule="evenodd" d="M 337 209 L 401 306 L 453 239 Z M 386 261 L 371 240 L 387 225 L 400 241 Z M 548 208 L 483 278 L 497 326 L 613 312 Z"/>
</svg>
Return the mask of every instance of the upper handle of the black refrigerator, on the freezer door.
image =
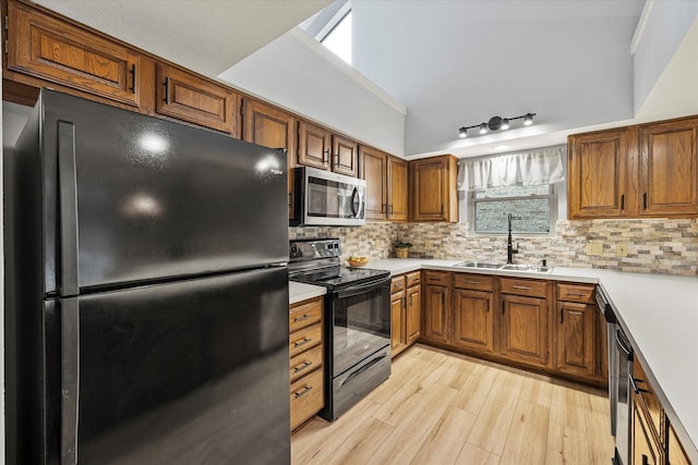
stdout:
<svg viewBox="0 0 698 465">
<path fill-rule="evenodd" d="M 58 122 L 58 192 L 60 196 L 61 294 L 77 295 L 77 179 L 75 125 Z"/>
</svg>

